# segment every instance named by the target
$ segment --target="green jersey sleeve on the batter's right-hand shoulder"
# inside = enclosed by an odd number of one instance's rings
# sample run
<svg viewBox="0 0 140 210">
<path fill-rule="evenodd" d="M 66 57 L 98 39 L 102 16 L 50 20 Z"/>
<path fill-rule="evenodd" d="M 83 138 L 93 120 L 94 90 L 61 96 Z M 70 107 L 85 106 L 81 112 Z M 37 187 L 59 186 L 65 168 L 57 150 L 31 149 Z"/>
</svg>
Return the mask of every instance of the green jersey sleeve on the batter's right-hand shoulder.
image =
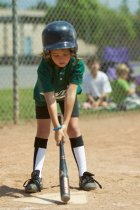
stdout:
<svg viewBox="0 0 140 210">
<path fill-rule="evenodd" d="M 84 62 L 82 60 L 79 60 L 78 63 L 74 66 L 70 83 L 79 85 L 83 81 L 83 74 L 84 74 Z"/>
</svg>

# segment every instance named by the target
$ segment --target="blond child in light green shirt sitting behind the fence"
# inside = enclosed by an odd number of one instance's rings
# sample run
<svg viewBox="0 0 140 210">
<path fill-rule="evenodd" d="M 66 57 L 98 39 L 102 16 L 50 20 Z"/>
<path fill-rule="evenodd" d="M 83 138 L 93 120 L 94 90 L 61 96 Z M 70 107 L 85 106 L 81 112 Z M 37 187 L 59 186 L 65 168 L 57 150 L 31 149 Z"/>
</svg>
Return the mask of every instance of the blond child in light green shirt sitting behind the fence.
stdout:
<svg viewBox="0 0 140 210">
<path fill-rule="evenodd" d="M 118 109 L 124 110 L 127 105 L 140 103 L 135 93 L 135 83 L 129 82 L 129 68 L 126 64 L 116 66 L 117 79 L 112 82 L 112 99 L 117 104 Z"/>
</svg>

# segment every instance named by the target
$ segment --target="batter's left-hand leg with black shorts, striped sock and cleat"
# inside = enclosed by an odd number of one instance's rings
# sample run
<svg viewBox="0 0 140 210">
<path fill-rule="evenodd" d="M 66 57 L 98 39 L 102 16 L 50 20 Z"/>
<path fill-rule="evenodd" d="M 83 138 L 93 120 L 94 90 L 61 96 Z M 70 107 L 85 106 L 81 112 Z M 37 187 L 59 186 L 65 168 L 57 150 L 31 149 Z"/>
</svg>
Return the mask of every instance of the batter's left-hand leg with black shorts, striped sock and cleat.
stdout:
<svg viewBox="0 0 140 210">
<path fill-rule="evenodd" d="M 31 173 L 31 179 L 23 184 L 27 193 L 39 192 L 43 187 L 41 174 L 50 134 L 50 117 L 47 106 L 36 107 L 36 118 L 37 133 L 34 142 L 33 172 Z"/>
</svg>

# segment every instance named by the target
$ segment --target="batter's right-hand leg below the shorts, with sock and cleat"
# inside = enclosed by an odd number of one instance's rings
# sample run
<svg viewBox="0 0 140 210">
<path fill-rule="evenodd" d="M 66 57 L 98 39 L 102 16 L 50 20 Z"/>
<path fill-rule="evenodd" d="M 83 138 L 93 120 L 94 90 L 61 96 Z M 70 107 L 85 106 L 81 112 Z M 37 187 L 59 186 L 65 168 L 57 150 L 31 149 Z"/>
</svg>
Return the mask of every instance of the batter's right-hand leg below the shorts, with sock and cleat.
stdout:
<svg viewBox="0 0 140 210">
<path fill-rule="evenodd" d="M 68 126 L 72 152 L 79 171 L 79 186 L 81 189 L 89 191 L 96 189 L 96 183 L 102 186 L 93 178 L 94 174 L 87 172 L 85 148 L 83 138 L 79 130 L 78 118 L 71 118 Z"/>
</svg>

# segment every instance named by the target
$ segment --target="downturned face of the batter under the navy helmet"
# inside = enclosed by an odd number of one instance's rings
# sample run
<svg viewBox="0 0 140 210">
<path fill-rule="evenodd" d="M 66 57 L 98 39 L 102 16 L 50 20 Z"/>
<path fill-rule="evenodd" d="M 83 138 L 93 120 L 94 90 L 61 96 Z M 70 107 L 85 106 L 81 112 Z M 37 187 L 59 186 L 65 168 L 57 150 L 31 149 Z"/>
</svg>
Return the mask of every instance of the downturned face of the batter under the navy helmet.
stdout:
<svg viewBox="0 0 140 210">
<path fill-rule="evenodd" d="M 51 58 L 58 67 L 65 67 L 71 58 L 69 49 L 51 50 Z"/>
</svg>

